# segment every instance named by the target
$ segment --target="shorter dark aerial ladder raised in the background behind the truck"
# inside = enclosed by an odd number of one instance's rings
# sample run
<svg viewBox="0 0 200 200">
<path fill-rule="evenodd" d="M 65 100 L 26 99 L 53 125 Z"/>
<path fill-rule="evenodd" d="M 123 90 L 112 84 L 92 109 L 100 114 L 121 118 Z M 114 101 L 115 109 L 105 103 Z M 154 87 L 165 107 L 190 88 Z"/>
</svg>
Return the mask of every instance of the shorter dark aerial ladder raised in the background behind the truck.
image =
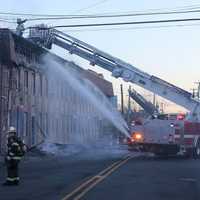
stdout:
<svg viewBox="0 0 200 200">
<path fill-rule="evenodd" d="M 133 88 L 131 90 L 128 90 L 129 96 L 138 103 L 146 113 L 149 115 L 156 115 L 159 113 L 156 106 L 154 106 L 150 101 L 147 101 L 141 94 L 139 94 L 136 90 Z"/>
</svg>

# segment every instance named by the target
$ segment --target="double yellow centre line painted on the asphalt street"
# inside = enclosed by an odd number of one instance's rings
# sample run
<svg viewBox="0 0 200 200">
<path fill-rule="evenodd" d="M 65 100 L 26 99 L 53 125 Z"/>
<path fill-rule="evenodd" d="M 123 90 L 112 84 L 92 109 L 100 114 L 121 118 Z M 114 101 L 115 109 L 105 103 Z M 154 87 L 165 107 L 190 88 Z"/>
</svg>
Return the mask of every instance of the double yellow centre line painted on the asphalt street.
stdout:
<svg viewBox="0 0 200 200">
<path fill-rule="evenodd" d="M 81 199 L 87 192 L 89 192 L 92 188 L 94 188 L 98 183 L 103 181 L 106 177 L 112 174 L 119 167 L 124 165 L 127 161 L 129 161 L 133 156 L 125 156 L 122 160 L 114 162 L 112 165 L 99 172 L 97 175 L 93 176 L 89 180 L 82 183 L 72 192 L 67 194 L 62 200 L 79 200 Z"/>
</svg>

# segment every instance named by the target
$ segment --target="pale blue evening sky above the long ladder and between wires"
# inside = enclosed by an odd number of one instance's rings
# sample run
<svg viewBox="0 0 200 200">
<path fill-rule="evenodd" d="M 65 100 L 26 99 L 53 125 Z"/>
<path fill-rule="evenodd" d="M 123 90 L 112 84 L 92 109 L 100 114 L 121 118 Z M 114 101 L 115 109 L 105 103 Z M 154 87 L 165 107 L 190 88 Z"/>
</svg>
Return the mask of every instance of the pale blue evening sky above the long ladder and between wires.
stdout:
<svg viewBox="0 0 200 200">
<path fill-rule="evenodd" d="M 96 3 L 97 5 L 94 6 Z M 174 9 L 184 6 L 200 7 L 200 2 L 198 0 L 6 0 L 1 2 L 0 11 L 36 14 L 91 14 L 146 11 L 147 9 L 161 8 Z M 159 17 L 143 16 L 124 19 L 48 21 L 48 23 L 66 25 L 70 23 L 139 21 L 191 17 L 200 17 L 200 13 L 173 16 L 163 15 Z M 192 24 L 192 22 L 179 24 Z M 72 31 L 72 29 L 63 30 L 101 50 L 132 63 L 143 71 L 163 78 L 189 91 L 194 87 L 194 81 L 200 80 L 200 22 L 193 22 L 193 24 L 196 24 L 196 26 L 130 29 L 134 27 L 144 27 L 144 25 L 129 25 L 123 27 L 129 30 L 80 31 L 80 28 L 78 30 L 73 29 L 76 30 L 76 32 Z M 1 23 L 1 26 L 3 25 L 6 26 L 7 24 Z M 149 26 L 152 27 L 155 25 Z M 83 29 L 94 30 L 96 28 Z M 56 51 L 60 52 L 60 50 Z M 76 61 L 75 57 L 72 57 L 72 59 Z M 82 64 L 79 60 L 77 60 L 77 62 Z M 96 69 L 100 70 L 99 68 Z M 105 76 L 109 80 L 114 80 L 109 78 L 107 73 Z M 119 82 L 115 81 L 114 83 L 116 87 L 119 86 Z"/>
</svg>

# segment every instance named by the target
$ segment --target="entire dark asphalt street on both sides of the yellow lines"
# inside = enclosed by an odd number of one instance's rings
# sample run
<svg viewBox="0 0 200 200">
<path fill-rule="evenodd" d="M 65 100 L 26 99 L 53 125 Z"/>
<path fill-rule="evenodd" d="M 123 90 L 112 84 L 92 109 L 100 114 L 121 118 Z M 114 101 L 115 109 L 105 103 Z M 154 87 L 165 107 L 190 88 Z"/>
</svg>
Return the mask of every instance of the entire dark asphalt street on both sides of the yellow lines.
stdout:
<svg viewBox="0 0 200 200">
<path fill-rule="evenodd" d="M 108 153 L 109 152 L 109 153 Z M 71 156 L 26 158 L 21 163 L 20 186 L 0 186 L 1 200 L 63 199 L 86 184 L 84 200 L 199 200 L 200 161 L 139 156 L 119 161 L 128 153 L 81 152 Z M 116 163 L 111 166 L 113 163 Z M 104 174 L 99 174 L 108 168 Z M 111 173 L 112 172 L 112 173 Z M 99 175 L 98 175 L 99 174 Z M 97 176 L 98 175 L 98 176 Z M 0 169 L 3 182 L 5 169 Z M 89 188 L 89 189 L 88 189 Z M 75 197 L 69 199 L 77 199 Z"/>
</svg>

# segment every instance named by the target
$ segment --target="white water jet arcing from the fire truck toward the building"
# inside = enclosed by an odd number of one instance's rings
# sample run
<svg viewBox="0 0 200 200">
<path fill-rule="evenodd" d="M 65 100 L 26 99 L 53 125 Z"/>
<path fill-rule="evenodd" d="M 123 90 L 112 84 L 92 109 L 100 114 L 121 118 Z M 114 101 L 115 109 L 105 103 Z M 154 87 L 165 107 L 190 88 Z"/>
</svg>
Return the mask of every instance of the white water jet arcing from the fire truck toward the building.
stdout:
<svg viewBox="0 0 200 200">
<path fill-rule="evenodd" d="M 93 105 L 96 111 L 110 121 L 120 132 L 129 137 L 128 126 L 121 114 L 113 107 L 107 97 L 88 79 L 80 77 L 76 70 L 67 65 L 56 62 L 52 57 L 43 59 L 46 71 L 50 76 L 66 81 L 75 92 L 78 92 L 86 101 Z M 84 126 L 84 123 L 82 124 Z M 65 133 L 63 133 L 65 134 Z M 74 135 L 75 136 L 75 135 Z M 89 136 L 88 136 L 89 137 Z"/>
</svg>

